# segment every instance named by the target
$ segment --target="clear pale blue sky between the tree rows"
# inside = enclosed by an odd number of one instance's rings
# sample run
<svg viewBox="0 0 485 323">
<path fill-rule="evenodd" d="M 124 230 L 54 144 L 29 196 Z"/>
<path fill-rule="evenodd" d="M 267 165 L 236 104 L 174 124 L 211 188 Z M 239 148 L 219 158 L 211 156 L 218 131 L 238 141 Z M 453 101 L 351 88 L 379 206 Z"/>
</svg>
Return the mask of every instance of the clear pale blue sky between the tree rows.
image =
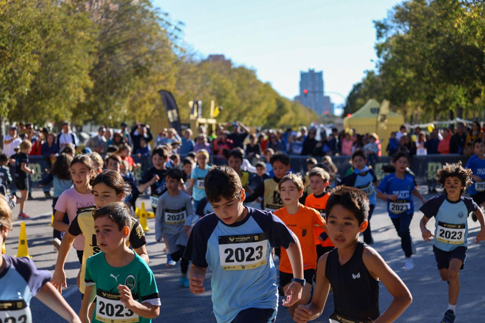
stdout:
<svg viewBox="0 0 485 323">
<path fill-rule="evenodd" d="M 195 1 L 152 0 L 181 20 L 185 41 L 201 57 L 224 54 L 257 71 L 288 98 L 298 94 L 300 71 L 323 70 L 325 91 L 344 96 L 373 69 L 373 19 L 387 16 L 398 0 Z M 341 104 L 343 98 L 330 94 Z"/>
</svg>

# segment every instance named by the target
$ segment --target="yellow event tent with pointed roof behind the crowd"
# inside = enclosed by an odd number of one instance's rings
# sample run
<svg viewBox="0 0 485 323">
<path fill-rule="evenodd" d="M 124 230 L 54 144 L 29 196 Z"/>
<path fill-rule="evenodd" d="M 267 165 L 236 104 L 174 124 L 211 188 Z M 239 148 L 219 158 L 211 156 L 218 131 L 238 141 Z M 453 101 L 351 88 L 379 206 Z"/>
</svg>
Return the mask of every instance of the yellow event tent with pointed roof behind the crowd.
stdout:
<svg viewBox="0 0 485 323">
<path fill-rule="evenodd" d="M 382 118 L 381 122 L 378 122 L 380 106 L 381 104 L 377 100 L 370 99 L 362 108 L 352 113 L 350 117 L 343 118 L 343 126 L 346 132 L 350 131 L 350 129 L 355 129 L 359 134 L 375 132 L 382 142 L 382 154 L 386 155 L 390 134 L 393 131 L 399 131 L 399 127 L 404 124 L 404 117 L 386 108 L 388 110 L 385 118 L 386 122 Z M 381 115 L 382 113 L 383 111 L 381 111 Z"/>
</svg>

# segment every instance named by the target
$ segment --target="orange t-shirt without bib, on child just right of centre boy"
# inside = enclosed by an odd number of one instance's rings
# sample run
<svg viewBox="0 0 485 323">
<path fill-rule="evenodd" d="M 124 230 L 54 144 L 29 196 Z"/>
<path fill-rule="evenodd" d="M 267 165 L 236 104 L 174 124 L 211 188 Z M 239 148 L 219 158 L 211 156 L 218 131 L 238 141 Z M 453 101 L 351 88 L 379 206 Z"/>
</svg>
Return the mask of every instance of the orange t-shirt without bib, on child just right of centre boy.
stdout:
<svg viewBox="0 0 485 323">
<path fill-rule="evenodd" d="M 288 214 L 286 206 L 276 210 L 274 214 L 298 237 L 303 254 L 303 270 L 316 269 L 317 250 L 315 249 L 313 228 L 314 225 L 323 226 L 325 224 L 320 213 L 301 205 L 298 212 L 293 215 Z M 288 253 L 283 248 L 281 248 L 279 270 L 288 274 L 293 273 Z"/>
</svg>

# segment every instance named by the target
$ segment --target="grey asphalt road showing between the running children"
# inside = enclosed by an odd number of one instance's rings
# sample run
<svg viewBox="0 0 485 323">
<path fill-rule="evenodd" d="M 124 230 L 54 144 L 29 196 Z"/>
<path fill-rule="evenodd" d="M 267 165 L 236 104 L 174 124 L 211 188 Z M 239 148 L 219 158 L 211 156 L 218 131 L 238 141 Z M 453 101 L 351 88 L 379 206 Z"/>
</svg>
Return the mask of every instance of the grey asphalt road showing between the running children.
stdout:
<svg viewBox="0 0 485 323">
<path fill-rule="evenodd" d="M 424 193 L 424 192 L 422 192 Z M 52 228 L 49 227 L 52 200 L 45 200 L 41 191 L 34 191 L 34 200 L 27 201 L 26 213 L 32 219 L 25 221 L 28 236 L 29 253 L 33 257 L 37 268 L 53 271 L 57 252 L 51 245 Z M 426 199 L 431 195 L 425 195 Z M 141 203 L 147 199 L 139 199 Z M 415 208 L 419 209 L 421 202 L 415 199 Z M 18 206 L 14 210 L 14 218 L 18 214 Z M 396 322 L 439 322 L 443 317 L 448 305 L 448 285 L 441 281 L 433 255 L 432 243 L 425 242 L 421 238 L 419 221 L 422 216 L 416 211 L 411 223 L 411 235 L 417 254 L 413 256 L 415 268 L 410 272 L 404 272 L 404 253 L 401 243 L 394 230 L 392 222 L 387 215 L 385 203 L 378 201 L 377 208 L 372 215 L 372 234 L 374 248 L 387 261 L 389 266 L 404 280 L 413 295 L 413 303 L 406 309 L 404 314 Z M 16 255 L 20 222 L 10 232 L 6 241 L 7 254 Z M 205 280 L 206 292 L 194 295 L 188 288 L 179 284 L 179 265 L 166 266 L 166 253 L 164 245 L 155 241 L 154 220 L 148 220 L 150 231 L 146 232 L 147 250 L 150 257 L 150 267 L 155 274 L 157 286 L 160 292 L 162 307 L 160 316 L 153 322 L 215 322 L 210 299 L 211 273 Z M 428 228 L 434 228 L 434 219 L 428 223 Z M 472 222 L 469 218 L 468 258 L 465 269 L 461 271 L 461 292 L 456 308 L 457 323 L 460 322 L 485 322 L 484 295 L 485 280 L 482 278 L 485 272 L 485 243 L 476 244 L 474 237 L 480 230 L 478 222 Z M 65 270 L 68 287 L 63 296 L 76 311 L 81 306 L 81 293 L 76 286 L 76 276 L 79 270 L 79 261 L 76 252 L 71 250 L 66 261 Z M 280 304 L 281 304 L 280 297 Z M 392 301 L 387 289 L 382 285 L 380 288 L 379 304 L 381 312 Z M 37 299 L 31 302 L 32 318 L 35 323 L 62 322 L 63 320 L 44 306 Z M 315 322 L 328 322 L 328 317 L 333 311 L 332 294 L 329 295 L 322 316 Z M 277 322 L 292 322 L 288 310 L 282 306 L 278 308 Z"/>
</svg>

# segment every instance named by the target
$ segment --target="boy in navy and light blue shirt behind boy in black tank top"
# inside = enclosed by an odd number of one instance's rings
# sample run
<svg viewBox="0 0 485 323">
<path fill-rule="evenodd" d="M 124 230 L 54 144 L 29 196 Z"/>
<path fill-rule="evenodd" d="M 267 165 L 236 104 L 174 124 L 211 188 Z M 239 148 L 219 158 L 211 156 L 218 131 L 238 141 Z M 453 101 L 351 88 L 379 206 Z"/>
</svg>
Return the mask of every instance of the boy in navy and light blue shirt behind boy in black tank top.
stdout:
<svg viewBox="0 0 485 323">
<path fill-rule="evenodd" d="M 354 166 L 354 172 L 342 179 L 342 185 L 357 187 L 367 195 L 369 199 L 369 216 L 367 221 L 367 229 L 364 231 L 364 242 L 368 245 L 374 244 L 371 233 L 371 217 L 377 205 L 375 189 L 377 188 L 377 177 L 374 171 L 367 166 L 367 158 L 364 151 L 358 149 L 352 154 L 352 165 Z"/>
</svg>

